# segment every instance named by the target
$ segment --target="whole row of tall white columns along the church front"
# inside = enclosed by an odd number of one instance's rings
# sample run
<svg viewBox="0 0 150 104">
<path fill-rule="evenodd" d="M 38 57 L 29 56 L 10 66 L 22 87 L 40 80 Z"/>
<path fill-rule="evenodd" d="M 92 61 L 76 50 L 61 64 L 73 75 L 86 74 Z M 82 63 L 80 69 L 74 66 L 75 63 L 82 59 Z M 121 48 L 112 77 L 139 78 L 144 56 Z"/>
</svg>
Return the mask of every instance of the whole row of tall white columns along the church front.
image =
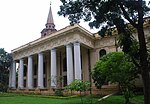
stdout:
<svg viewBox="0 0 150 104">
<path fill-rule="evenodd" d="M 74 42 L 67 44 L 66 46 L 66 62 L 67 62 L 67 84 L 69 85 L 74 79 L 81 79 L 81 49 L 80 43 Z M 56 78 L 57 76 L 57 49 L 53 48 L 50 50 L 51 64 L 50 76 L 51 78 Z M 74 54 L 73 54 L 74 53 Z M 38 53 L 38 80 L 37 87 L 39 89 L 44 88 L 43 83 L 43 69 L 44 69 L 44 57 L 43 52 Z M 33 55 L 28 56 L 28 66 L 27 66 L 27 88 L 33 89 Z M 73 60 L 74 59 L 74 60 Z M 56 79 L 53 79 L 56 80 Z M 24 58 L 19 59 L 19 70 L 18 70 L 18 86 L 19 89 L 24 89 Z M 51 79 L 51 87 L 56 87 L 56 83 Z M 12 63 L 12 69 L 10 71 L 9 87 L 16 89 L 16 61 Z"/>
</svg>

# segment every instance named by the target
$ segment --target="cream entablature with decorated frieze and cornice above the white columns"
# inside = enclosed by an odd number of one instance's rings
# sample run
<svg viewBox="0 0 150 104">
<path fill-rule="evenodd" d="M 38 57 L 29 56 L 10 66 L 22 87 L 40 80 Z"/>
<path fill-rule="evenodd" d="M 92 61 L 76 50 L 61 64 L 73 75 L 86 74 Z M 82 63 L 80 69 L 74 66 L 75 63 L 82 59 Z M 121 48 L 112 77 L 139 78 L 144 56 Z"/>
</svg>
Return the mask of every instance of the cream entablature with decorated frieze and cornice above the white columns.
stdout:
<svg viewBox="0 0 150 104">
<path fill-rule="evenodd" d="M 46 37 L 39 38 L 20 46 L 12 50 L 12 54 L 14 59 L 19 59 L 76 41 L 87 47 L 94 48 L 93 34 L 80 25 L 75 24 L 74 26 L 67 26 Z"/>
</svg>

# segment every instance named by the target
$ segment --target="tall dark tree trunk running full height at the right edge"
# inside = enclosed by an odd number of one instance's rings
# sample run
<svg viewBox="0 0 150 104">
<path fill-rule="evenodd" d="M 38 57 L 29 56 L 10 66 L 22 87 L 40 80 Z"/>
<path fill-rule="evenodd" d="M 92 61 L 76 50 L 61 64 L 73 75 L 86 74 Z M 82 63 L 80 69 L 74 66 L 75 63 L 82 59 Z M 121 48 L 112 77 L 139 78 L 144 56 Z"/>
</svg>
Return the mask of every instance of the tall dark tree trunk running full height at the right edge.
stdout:
<svg viewBox="0 0 150 104">
<path fill-rule="evenodd" d="M 150 75 L 149 75 L 149 64 L 148 64 L 148 53 L 146 48 L 144 29 L 143 29 L 143 0 L 138 0 L 138 39 L 140 45 L 140 70 L 143 80 L 143 91 L 144 91 L 144 104 L 150 104 Z"/>
</svg>

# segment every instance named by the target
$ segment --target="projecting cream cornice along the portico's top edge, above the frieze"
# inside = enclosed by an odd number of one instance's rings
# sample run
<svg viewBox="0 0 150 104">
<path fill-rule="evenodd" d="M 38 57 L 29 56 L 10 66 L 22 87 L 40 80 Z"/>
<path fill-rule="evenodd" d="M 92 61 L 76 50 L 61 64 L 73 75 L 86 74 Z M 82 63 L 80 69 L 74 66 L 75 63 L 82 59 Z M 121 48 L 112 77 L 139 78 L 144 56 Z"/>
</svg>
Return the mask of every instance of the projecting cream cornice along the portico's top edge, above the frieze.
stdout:
<svg viewBox="0 0 150 104">
<path fill-rule="evenodd" d="M 67 27 L 65 27 L 65 28 L 53 33 L 53 34 L 50 34 L 46 37 L 38 38 L 34 41 L 31 41 L 25 45 L 22 45 L 16 49 L 13 49 L 11 52 L 14 53 L 14 52 L 22 51 L 24 49 L 42 44 L 42 43 L 47 42 L 49 40 L 53 40 L 54 38 L 69 34 L 70 32 L 73 32 L 73 31 L 79 31 L 79 32 L 83 33 L 84 35 L 88 36 L 89 38 L 94 39 L 93 34 L 91 32 L 89 32 L 85 28 L 81 27 L 80 25 L 75 24 L 73 26 L 67 26 Z"/>
</svg>

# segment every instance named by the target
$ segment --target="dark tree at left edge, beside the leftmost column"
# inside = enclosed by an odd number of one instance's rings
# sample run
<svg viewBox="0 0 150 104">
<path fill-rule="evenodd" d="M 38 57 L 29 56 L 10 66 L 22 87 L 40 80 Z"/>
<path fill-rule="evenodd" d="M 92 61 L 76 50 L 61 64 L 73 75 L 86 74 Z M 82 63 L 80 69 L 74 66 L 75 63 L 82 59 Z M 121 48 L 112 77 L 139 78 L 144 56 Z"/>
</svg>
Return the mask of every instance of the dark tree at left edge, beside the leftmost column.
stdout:
<svg viewBox="0 0 150 104">
<path fill-rule="evenodd" d="M 11 61 L 11 55 L 0 48 L 0 91 L 7 91 Z"/>
</svg>

